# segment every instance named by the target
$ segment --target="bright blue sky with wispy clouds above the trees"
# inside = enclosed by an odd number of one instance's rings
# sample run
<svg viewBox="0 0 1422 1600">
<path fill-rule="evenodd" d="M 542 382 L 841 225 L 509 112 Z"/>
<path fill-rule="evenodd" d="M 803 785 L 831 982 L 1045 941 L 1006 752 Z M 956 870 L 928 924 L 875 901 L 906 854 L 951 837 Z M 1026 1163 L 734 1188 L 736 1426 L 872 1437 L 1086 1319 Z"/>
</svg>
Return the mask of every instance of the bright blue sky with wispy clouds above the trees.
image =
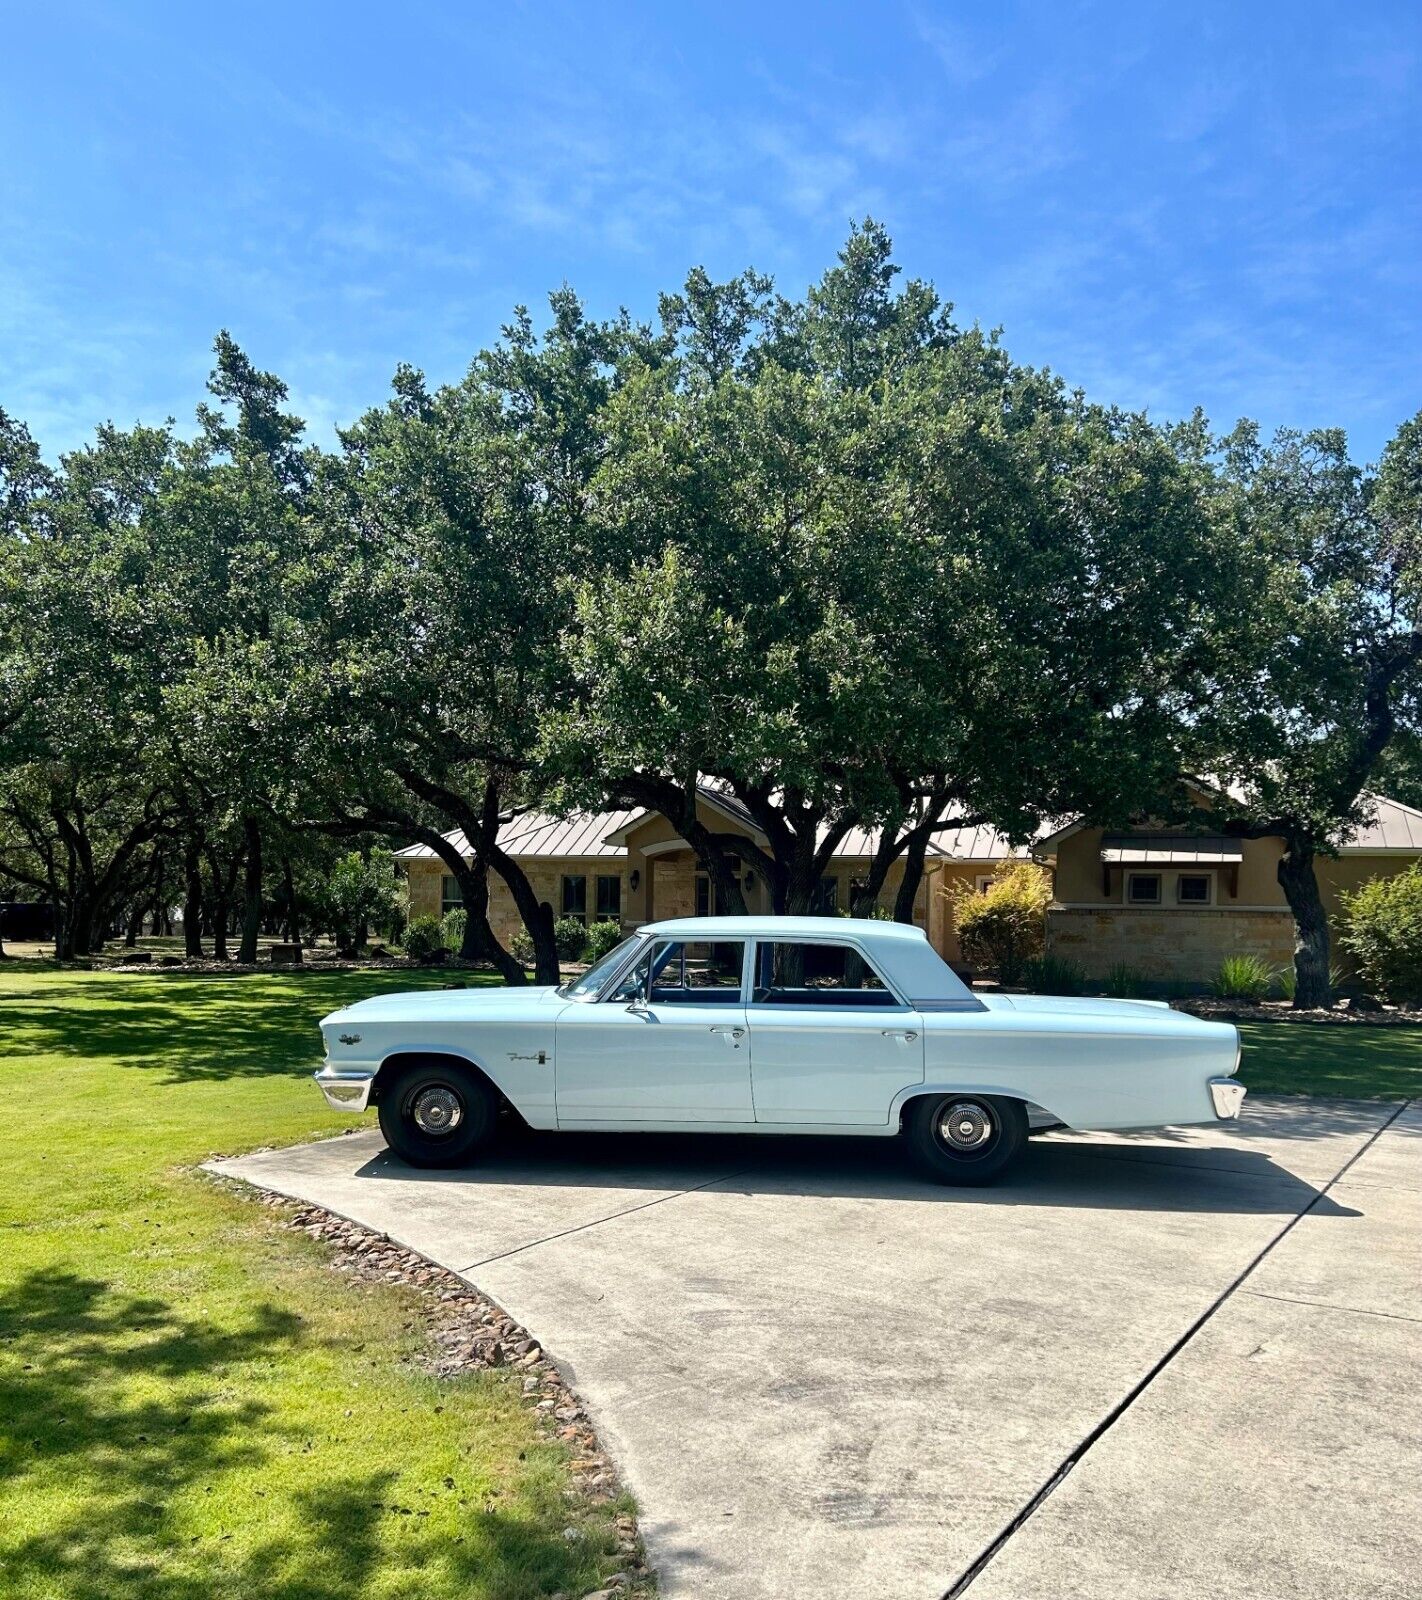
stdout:
<svg viewBox="0 0 1422 1600">
<path fill-rule="evenodd" d="M 315 437 L 568 282 L 800 293 L 851 218 L 1094 398 L 1422 406 L 1422 6 L 6 6 L 0 406 L 190 422 L 227 326 Z"/>
</svg>

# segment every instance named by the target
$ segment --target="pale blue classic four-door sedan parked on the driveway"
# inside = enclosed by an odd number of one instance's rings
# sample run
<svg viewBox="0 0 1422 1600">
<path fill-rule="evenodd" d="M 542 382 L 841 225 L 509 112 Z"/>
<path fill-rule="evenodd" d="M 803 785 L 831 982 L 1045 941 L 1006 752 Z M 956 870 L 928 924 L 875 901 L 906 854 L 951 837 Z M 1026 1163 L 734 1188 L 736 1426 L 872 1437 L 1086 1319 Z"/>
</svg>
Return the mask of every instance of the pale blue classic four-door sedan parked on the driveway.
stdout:
<svg viewBox="0 0 1422 1600">
<path fill-rule="evenodd" d="M 533 1128 L 902 1136 L 942 1182 L 1029 1130 L 1238 1115 L 1238 1030 L 1150 1000 L 968 989 L 918 928 L 838 917 L 649 923 L 560 989 L 379 995 L 322 1021 L 317 1083 L 451 1166 Z"/>
</svg>

